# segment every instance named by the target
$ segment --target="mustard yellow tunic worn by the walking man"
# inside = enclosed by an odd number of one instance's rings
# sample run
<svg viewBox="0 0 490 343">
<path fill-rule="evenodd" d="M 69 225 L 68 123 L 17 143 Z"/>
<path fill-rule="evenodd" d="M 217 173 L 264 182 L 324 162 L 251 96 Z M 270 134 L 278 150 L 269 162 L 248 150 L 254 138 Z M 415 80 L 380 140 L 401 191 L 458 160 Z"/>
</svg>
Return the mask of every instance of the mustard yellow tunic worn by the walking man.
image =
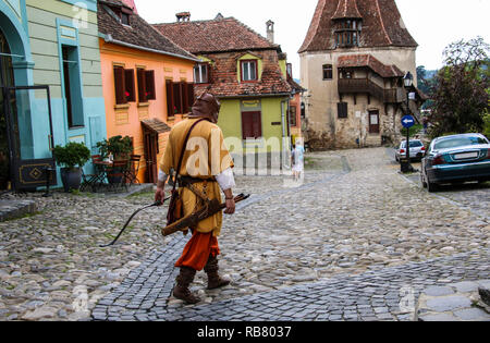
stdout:
<svg viewBox="0 0 490 343">
<path fill-rule="evenodd" d="M 160 162 L 160 170 L 167 175 L 170 175 L 171 170 L 177 168 L 185 136 L 196 121 L 198 119 L 186 119 L 172 128 Z M 221 128 L 209 121 L 201 121 L 191 134 L 179 174 L 197 179 L 210 179 L 229 168 L 233 168 L 233 160 L 224 145 Z M 222 201 L 218 182 L 196 183 L 194 186 L 206 193 L 209 199 Z M 198 198 L 188 188 L 181 188 L 179 192 L 184 203 L 184 216 L 188 216 L 199 206 Z M 194 229 L 200 233 L 212 232 L 213 236 L 218 237 L 221 233 L 222 222 L 223 213 L 219 212 L 199 222 L 197 228 Z"/>
</svg>

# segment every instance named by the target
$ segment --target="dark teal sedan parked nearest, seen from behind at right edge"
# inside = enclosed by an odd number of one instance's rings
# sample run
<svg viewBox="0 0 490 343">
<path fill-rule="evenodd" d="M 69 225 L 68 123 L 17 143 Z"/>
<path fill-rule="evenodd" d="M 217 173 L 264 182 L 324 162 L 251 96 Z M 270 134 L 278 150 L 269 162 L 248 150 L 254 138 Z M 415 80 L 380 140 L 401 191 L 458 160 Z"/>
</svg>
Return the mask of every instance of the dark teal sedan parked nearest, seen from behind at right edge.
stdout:
<svg viewBox="0 0 490 343">
<path fill-rule="evenodd" d="M 436 138 L 422 159 L 420 179 L 429 192 L 441 184 L 490 181 L 490 142 L 480 134 Z"/>
</svg>

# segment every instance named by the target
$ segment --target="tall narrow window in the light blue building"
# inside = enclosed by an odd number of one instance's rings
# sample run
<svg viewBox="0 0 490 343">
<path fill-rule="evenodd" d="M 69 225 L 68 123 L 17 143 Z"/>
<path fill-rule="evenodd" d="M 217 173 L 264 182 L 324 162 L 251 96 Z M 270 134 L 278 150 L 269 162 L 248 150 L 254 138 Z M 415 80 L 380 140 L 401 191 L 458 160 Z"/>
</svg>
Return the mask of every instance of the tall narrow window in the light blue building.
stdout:
<svg viewBox="0 0 490 343">
<path fill-rule="evenodd" d="M 84 126 L 82 82 L 79 77 L 78 49 L 62 46 L 63 88 L 70 128 Z"/>
</svg>

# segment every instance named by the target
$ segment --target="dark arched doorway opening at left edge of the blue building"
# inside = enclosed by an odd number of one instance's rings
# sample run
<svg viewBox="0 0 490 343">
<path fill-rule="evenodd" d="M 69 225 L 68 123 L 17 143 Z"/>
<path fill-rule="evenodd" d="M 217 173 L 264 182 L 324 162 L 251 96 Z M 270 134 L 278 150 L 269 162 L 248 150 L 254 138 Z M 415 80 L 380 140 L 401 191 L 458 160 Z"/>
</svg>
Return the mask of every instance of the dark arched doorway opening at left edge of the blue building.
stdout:
<svg viewBox="0 0 490 343">
<path fill-rule="evenodd" d="M 8 137 L 7 95 L 3 87 L 14 85 L 11 50 L 0 29 L 0 192 L 11 188 L 11 161 Z"/>
</svg>

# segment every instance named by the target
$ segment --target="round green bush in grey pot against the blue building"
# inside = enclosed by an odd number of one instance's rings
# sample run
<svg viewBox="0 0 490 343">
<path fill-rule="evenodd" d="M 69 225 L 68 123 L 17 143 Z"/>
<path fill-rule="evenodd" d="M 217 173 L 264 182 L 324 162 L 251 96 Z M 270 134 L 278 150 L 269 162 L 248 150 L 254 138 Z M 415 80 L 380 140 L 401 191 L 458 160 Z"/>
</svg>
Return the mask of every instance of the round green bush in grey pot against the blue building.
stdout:
<svg viewBox="0 0 490 343">
<path fill-rule="evenodd" d="M 54 159 L 61 169 L 61 181 L 64 192 L 79 189 L 82 183 L 82 168 L 90 159 L 90 150 L 81 143 L 69 143 L 64 147 L 57 146 L 53 150 Z"/>
</svg>

